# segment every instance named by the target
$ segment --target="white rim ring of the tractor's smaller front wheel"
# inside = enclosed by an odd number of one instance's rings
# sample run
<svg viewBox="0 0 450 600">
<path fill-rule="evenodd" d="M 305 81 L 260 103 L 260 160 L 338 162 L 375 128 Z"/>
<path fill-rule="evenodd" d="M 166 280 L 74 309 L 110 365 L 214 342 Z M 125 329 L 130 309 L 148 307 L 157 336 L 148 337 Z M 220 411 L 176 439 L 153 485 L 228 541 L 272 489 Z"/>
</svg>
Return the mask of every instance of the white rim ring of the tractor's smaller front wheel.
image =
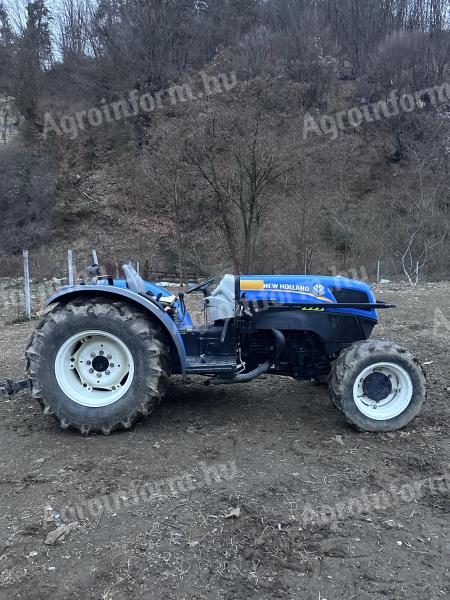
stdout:
<svg viewBox="0 0 450 600">
<path fill-rule="evenodd" d="M 381 373 L 389 379 L 391 389 L 387 395 L 376 400 L 367 395 L 368 377 L 374 373 Z M 353 399 L 358 410 L 376 421 L 395 419 L 405 411 L 413 395 L 413 384 L 410 375 L 395 363 L 379 362 L 365 368 L 355 380 L 353 385 Z"/>
</svg>

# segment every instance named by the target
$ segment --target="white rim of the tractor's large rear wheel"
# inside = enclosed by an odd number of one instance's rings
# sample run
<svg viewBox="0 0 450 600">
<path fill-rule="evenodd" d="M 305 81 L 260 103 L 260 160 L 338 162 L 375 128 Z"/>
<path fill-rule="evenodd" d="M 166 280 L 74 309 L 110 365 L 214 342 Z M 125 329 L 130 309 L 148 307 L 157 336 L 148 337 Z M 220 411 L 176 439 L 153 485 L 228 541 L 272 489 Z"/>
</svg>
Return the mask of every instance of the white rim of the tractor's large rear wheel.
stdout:
<svg viewBox="0 0 450 600">
<path fill-rule="evenodd" d="M 59 349 L 55 375 L 61 390 L 82 406 L 114 404 L 130 389 L 134 360 L 128 347 L 106 331 L 83 331 Z"/>
</svg>

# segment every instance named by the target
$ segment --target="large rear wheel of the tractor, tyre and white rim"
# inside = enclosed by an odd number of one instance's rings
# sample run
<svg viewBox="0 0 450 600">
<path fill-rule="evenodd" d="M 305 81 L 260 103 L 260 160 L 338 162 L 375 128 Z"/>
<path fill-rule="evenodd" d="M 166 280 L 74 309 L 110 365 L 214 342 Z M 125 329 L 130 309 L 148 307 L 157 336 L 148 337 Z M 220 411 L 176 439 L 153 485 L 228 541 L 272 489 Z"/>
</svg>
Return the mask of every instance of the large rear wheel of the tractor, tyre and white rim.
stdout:
<svg viewBox="0 0 450 600">
<path fill-rule="evenodd" d="M 170 375 L 159 324 L 133 305 L 104 297 L 53 308 L 26 356 L 32 395 L 44 413 L 83 435 L 129 429 L 158 406 Z"/>
</svg>

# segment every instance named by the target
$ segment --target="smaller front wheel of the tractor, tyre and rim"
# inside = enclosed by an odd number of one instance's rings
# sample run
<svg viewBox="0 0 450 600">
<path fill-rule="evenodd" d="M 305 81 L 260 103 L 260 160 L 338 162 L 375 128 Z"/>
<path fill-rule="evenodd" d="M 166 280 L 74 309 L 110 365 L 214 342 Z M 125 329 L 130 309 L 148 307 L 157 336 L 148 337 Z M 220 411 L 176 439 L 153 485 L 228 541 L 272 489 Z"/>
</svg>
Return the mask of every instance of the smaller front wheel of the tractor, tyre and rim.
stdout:
<svg viewBox="0 0 450 600">
<path fill-rule="evenodd" d="M 394 342 L 365 340 L 334 361 L 330 396 L 347 422 L 361 431 L 393 431 L 407 425 L 426 399 L 419 361 Z"/>
</svg>

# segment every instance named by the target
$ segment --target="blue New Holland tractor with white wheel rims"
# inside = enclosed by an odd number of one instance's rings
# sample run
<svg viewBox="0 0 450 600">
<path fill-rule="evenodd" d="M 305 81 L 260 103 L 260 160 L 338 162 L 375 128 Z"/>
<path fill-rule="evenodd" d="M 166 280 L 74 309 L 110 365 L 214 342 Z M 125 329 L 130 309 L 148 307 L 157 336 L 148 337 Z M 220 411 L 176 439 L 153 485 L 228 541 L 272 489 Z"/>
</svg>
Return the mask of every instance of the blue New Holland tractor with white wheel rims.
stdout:
<svg viewBox="0 0 450 600">
<path fill-rule="evenodd" d="M 326 382 L 353 427 L 406 425 L 426 398 L 419 361 L 394 342 L 370 339 L 377 302 L 365 283 L 341 277 L 225 275 L 194 285 L 204 323 L 183 293 L 90 268 L 89 283 L 61 288 L 26 356 L 32 395 L 63 429 L 83 435 L 129 429 L 161 402 L 171 374 L 234 385 L 260 375 Z M 216 284 L 213 286 L 213 284 Z M 212 291 L 210 291 L 210 288 Z"/>
</svg>

